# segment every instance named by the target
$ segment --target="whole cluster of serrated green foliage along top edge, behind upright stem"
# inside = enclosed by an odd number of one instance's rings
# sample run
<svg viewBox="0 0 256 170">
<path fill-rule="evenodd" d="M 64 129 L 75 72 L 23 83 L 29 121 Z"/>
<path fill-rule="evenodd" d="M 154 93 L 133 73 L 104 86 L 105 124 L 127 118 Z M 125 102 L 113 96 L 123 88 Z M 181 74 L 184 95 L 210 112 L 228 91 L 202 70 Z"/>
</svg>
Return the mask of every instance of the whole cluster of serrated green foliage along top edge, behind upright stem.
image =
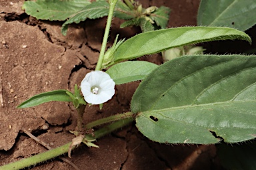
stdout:
<svg viewBox="0 0 256 170">
<path fill-rule="evenodd" d="M 93 1 L 91 3 L 88 0 L 37 0 L 25 1 L 23 9 L 25 9 L 28 15 L 37 19 L 49 19 L 50 21 L 64 21 L 68 19 L 61 28 L 63 35 L 66 35 L 68 25 L 71 23 L 80 23 L 86 19 L 97 19 L 107 16 L 109 3 L 107 1 Z M 154 25 L 161 29 L 167 26 L 170 11 L 168 7 L 149 7 L 143 9 L 141 5 L 129 8 L 122 1 L 117 1 L 114 16 L 128 20 L 121 27 L 137 25 L 141 27 L 142 31 L 152 31 L 155 29 Z"/>
</svg>

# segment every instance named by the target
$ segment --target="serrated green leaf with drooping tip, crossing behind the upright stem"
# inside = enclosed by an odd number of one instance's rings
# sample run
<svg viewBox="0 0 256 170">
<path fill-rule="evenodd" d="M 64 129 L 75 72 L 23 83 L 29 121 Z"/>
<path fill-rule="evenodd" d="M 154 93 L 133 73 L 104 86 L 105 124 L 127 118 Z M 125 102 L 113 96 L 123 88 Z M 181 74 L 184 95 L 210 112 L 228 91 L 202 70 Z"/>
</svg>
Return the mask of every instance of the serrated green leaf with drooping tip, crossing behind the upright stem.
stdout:
<svg viewBox="0 0 256 170">
<path fill-rule="evenodd" d="M 106 1 L 95 1 L 90 5 L 87 5 L 85 8 L 78 11 L 73 17 L 63 23 L 61 27 L 61 32 L 63 35 L 67 34 L 67 27 L 71 23 L 80 23 L 88 19 L 97 19 L 105 17 L 109 14 L 109 3 Z M 117 2 L 115 7 L 115 16 L 120 17 L 121 19 L 131 19 L 135 14 L 131 13 L 129 7 L 125 7 L 121 1 Z"/>
</svg>

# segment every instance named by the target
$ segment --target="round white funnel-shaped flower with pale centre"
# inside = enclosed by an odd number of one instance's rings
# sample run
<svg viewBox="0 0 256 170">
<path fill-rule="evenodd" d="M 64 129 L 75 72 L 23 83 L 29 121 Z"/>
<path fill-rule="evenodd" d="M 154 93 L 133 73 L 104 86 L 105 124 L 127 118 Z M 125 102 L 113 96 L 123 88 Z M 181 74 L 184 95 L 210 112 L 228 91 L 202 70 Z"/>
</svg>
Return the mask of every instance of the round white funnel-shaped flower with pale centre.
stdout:
<svg viewBox="0 0 256 170">
<path fill-rule="evenodd" d="M 105 72 L 89 72 L 81 82 L 81 91 L 87 103 L 103 104 L 115 94 L 115 82 Z"/>
</svg>

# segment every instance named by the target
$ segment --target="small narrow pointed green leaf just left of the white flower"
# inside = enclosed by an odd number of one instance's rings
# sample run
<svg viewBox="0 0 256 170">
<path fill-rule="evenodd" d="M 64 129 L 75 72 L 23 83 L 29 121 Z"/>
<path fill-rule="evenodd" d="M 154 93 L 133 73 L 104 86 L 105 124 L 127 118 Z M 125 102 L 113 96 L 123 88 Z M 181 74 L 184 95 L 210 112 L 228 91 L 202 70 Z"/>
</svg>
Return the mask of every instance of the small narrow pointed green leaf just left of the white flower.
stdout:
<svg viewBox="0 0 256 170">
<path fill-rule="evenodd" d="M 22 104 L 20 104 L 17 108 L 29 108 L 33 106 L 37 106 L 39 104 L 43 104 L 46 102 L 57 101 L 57 102 L 72 102 L 72 99 L 67 94 L 68 90 L 53 90 L 51 92 L 44 92 L 41 94 L 37 94 L 32 98 L 29 98 Z M 69 92 L 71 93 L 71 92 Z"/>
</svg>

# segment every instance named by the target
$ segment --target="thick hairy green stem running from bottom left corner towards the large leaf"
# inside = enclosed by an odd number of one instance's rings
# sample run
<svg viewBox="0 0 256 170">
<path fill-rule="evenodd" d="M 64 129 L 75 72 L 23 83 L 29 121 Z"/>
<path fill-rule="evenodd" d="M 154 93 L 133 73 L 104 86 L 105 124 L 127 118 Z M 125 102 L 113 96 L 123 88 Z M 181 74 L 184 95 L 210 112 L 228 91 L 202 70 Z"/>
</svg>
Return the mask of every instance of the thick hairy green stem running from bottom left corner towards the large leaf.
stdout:
<svg viewBox="0 0 256 170">
<path fill-rule="evenodd" d="M 107 135 L 108 133 L 111 133 L 112 131 L 115 131 L 116 129 L 122 128 L 123 126 L 127 126 L 133 122 L 133 118 L 128 118 L 125 120 L 119 120 L 118 122 L 114 122 L 113 124 L 110 124 L 109 126 L 106 126 L 105 128 L 101 128 L 94 132 L 94 136 L 88 136 L 87 139 L 98 139 L 99 137 L 103 137 L 104 135 Z M 44 153 L 39 153 L 38 155 L 28 157 L 25 159 L 21 159 L 19 161 L 9 163 L 7 165 L 3 165 L 0 167 L 0 170 L 9 170 L 9 169 L 23 169 L 25 167 L 30 167 L 32 165 L 37 165 L 38 163 L 47 161 L 49 159 L 53 159 L 59 155 L 63 155 L 64 153 L 67 153 L 69 151 L 69 145 L 71 145 L 71 142 L 62 145 L 60 147 L 57 147 L 55 149 L 51 149 L 49 151 L 46 151 Z"/>
</svg>

